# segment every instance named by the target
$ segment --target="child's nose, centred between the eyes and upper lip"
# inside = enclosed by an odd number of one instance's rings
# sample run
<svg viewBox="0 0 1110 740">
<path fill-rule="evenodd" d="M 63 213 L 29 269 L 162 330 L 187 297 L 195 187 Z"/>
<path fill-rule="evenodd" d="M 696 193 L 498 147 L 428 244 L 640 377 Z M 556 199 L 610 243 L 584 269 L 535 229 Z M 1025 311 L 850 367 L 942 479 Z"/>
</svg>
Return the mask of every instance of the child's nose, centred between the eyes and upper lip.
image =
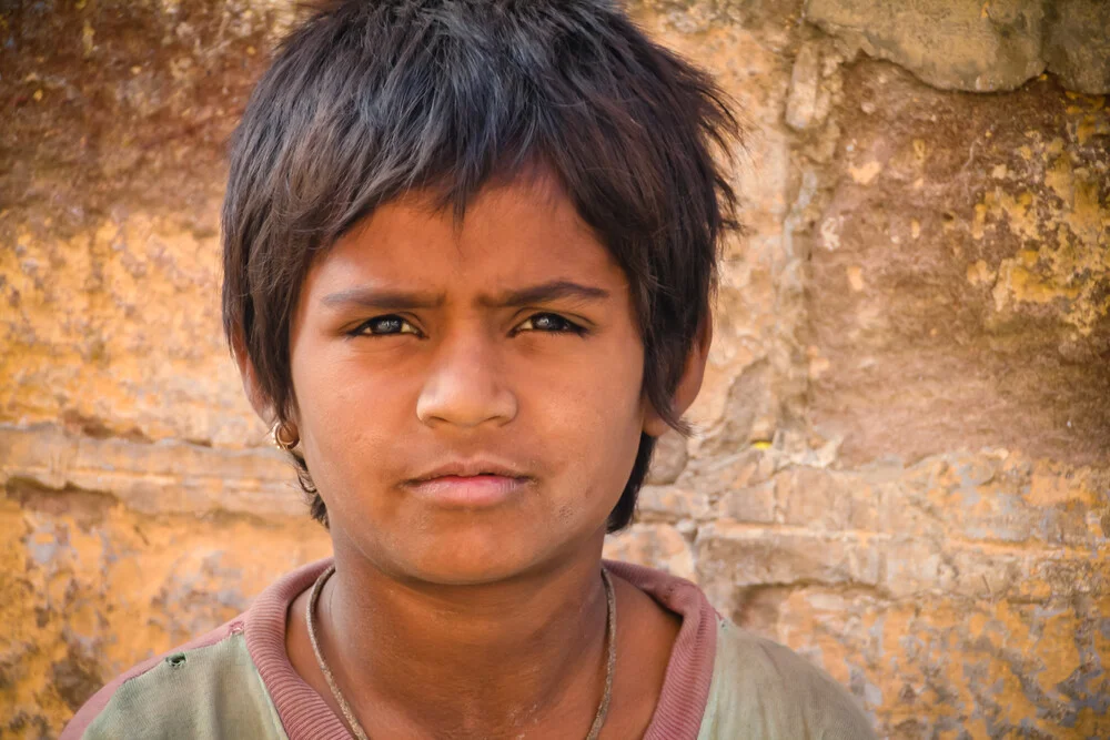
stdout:
<svg viewBox="0 0 1110 740">
<path fill-rule="evenodd" d="M 416 401 L 416 416 L 430 426 L 507 424 L 517 401 L 506 383 L 495 341 L 478 333 L 443 341 Z"/>
</svg>

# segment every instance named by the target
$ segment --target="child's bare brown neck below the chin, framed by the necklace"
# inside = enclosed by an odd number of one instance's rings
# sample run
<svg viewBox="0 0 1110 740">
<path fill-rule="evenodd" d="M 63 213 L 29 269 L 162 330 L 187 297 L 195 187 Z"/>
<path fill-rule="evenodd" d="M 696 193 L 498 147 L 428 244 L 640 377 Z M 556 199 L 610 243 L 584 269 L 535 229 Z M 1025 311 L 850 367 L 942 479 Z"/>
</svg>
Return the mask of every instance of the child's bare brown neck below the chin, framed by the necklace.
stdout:
<svg viewBox="0 0 1110 740">
<path fill-rule="evenodd" d="M 355 714 L 391 734 L 515 734 L 551 718 L 588 728 L 605 669 L 601 546 L 509 580 L 443 586 L 385 575 L 336 543 L 316 614 Z"/>
</svg>

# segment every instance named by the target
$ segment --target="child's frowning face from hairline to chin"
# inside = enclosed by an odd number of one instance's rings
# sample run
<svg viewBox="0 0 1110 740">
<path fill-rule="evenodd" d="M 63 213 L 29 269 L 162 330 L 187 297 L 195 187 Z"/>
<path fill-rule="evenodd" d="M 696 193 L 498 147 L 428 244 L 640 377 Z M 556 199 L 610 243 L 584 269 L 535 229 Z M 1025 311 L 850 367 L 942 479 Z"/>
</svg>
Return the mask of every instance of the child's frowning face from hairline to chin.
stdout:
<svg viewBox="0 0 1110 740">
<path fill-rule="evenodd" d="M 640 432 L 665 429 L 627 280 L 542 179 L 461 224 L 415 195 L 377 209 L 309 272 L 291 353 L 336 548 L 396 577 L 596 556 Z"/>
</svg>

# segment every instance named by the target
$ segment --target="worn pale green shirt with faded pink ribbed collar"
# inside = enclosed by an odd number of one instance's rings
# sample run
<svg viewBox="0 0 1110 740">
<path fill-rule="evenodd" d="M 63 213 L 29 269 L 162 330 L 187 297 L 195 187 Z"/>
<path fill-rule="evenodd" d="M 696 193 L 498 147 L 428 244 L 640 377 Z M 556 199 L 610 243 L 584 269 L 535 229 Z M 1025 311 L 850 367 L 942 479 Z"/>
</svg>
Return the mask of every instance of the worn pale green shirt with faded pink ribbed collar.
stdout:
<svg viewBox="0 0 1110 740">
<path fill-rule="evenodd" d="M 284 576 L 245 614 L 123 673 L 81 708 L 63 740 L 349 740 L 285 652 L 290 604 L 327 565 Z M 629 564 L 605 567 L 682 618 L 645 740 L 874 737 L 844 688 L 789 649 L 722 618 L 694 584 Z"/>
</svg>

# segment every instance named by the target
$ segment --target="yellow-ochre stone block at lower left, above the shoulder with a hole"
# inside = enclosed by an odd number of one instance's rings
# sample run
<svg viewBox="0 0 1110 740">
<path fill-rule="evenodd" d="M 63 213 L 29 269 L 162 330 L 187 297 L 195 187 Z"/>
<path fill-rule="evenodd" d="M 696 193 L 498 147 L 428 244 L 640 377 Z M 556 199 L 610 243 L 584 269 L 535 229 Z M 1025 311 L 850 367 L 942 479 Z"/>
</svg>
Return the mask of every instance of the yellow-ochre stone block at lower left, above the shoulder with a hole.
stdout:
<svg viewBox="0 0 1110 740">
<path fill-rule="evenodd" d="M 8 493 L 17 498 L 0 498 L 0 559 L 19 565 L 0 578 L 4 737 L 28 728 L 57 737 L 104 682 L 231 619 L 280 575 L 331 551 L 307 516 L 151 517 L 73 491 Z"/>
</svg>

